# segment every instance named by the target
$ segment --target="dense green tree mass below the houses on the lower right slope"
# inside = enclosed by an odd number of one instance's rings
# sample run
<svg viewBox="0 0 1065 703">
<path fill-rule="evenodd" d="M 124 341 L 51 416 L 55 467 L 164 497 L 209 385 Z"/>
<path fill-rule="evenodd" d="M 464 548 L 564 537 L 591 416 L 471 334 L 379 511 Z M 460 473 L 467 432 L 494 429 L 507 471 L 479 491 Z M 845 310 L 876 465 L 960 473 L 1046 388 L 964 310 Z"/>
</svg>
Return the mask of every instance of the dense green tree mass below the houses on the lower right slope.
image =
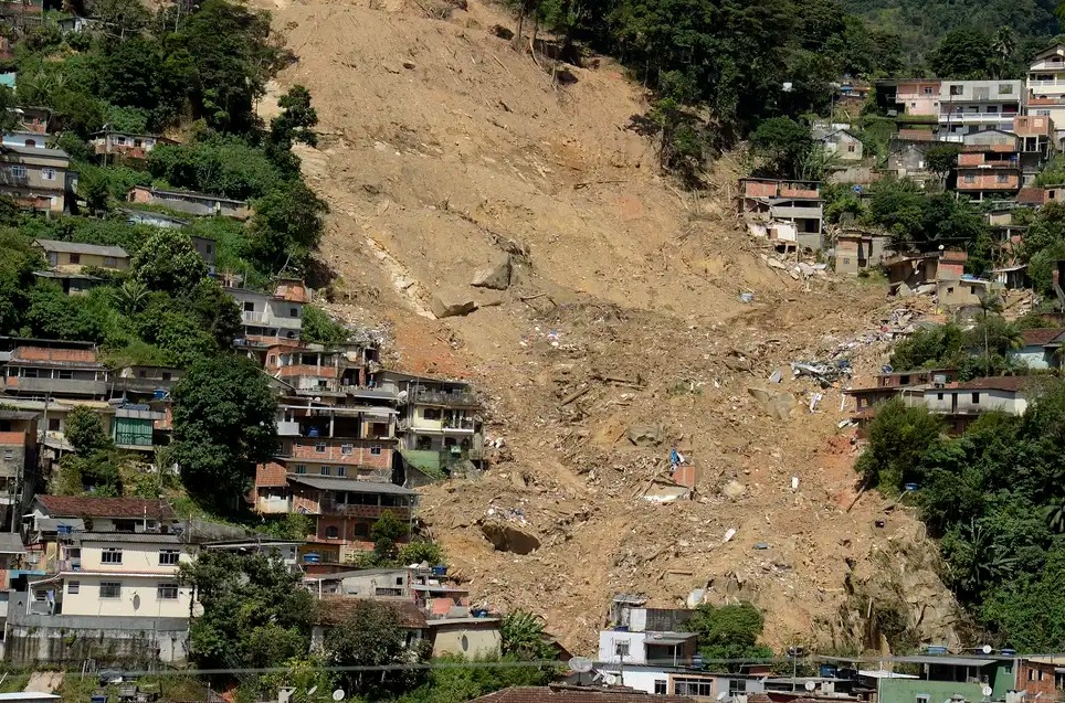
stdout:
<svg viewBox="0 0 1065 703">
<path fill-rule="evenodd" d="M 1002 646 L 1022 652 L 1065 646 L 1065 382 L 1035 382 L 1020 417 L 988 413 L 960 437 L 941 434 L 924 408 L 879 406 L 860 468 L 871 486 L 920 489 L 929 533 L 940 539 L 945 578 Z"/>
</svg>

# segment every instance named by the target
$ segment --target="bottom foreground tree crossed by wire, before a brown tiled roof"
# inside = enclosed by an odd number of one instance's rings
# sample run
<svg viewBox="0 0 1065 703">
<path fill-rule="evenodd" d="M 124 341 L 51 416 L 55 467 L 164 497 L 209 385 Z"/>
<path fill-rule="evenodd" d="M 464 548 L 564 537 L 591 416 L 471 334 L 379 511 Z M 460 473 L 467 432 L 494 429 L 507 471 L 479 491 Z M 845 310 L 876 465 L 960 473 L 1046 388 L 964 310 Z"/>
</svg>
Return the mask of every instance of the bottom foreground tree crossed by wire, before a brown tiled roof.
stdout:
<svg viewBox="0 0 1065 703">
<path fill-rule="evenodd" d="M 408 649 L 397 608 L 390 603 L 359 600 L 350 616 L 326 633 L 325 650 L 335 667 L 386 667 L 419 663 L 424 650 Z M 340 679 L 350 693 L 378 700 L 418 685 L 413 670 L 345 671 Z"/>
</svg>

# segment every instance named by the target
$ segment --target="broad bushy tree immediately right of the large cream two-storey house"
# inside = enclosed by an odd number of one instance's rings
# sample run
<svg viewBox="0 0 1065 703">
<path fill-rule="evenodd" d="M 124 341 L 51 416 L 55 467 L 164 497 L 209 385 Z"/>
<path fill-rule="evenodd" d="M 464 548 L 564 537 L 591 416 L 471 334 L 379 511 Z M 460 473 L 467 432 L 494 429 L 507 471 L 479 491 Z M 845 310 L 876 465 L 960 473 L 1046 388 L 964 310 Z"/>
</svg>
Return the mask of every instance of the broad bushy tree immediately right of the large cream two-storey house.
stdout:
<svg viewBox="0 0 1065 703">
<path fill-rule="evenodd" d="M 189 626 L 199 667 L 278 667 L 307 653 L 314 598 L 281 558 L 205 551 L 181 564 L 180 578 L 203 607 Z"/>
</svg>

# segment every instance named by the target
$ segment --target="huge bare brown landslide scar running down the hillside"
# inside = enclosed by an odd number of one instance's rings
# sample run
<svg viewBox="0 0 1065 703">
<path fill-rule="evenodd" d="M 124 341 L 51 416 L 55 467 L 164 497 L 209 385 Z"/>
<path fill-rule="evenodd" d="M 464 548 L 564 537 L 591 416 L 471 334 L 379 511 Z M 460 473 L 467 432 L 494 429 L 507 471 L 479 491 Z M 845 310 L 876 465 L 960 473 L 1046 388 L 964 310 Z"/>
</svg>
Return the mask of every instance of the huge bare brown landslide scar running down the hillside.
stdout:
<svg viewBox="0 0 1065 703">
<path fill-rule="evenodd" d="M 333 309 L 386 329 L 396 365 L 484 392 L 492 468 L 428 490 L 422 513 L 478 601 L 532 609 L 582 653 L 619 592 L 751 599 L 774 646 L 950 640 L 908 509 L 846 510 L 841 384 L 789 365 L 842 351 L 874 372 L 906 324 L 882 287 L 768 265 L 736 227 L 727 164 L 720 192 L 679 193 L 631 129 L 639 86 L 605 58 L 552 81 L 493 33 L 515 28 L 495 7 L 260 2 L 299 57 L 275 89 L 306 85 L 321 120 L 300 156 L 333 207 Z M 503 253 L 509 289 L 471 287 Z M 436 320 L 433 296 L 481 307 Z M 653 504 L 673 441 L 696 498 Z M 497 551 L 485 530 L 540 546 Z"/>
</svg>

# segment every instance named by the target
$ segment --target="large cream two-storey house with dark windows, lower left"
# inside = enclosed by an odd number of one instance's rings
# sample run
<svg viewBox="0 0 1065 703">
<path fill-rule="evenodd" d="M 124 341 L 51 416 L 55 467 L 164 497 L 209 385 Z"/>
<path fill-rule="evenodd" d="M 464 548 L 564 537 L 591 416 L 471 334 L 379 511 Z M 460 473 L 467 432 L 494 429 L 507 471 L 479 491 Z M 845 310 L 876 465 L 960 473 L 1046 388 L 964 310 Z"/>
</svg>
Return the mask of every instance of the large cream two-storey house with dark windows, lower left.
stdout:
<svg viewBox="0 0 1065 703">
<path fill-rule="evenodd" d="M 192 592 L 178 583 L 191 561 L 177 535 L 88 532 L 61 545 L 57 574 L 31 584 L 49 615 L 187 618 Z"/>
</svg>

